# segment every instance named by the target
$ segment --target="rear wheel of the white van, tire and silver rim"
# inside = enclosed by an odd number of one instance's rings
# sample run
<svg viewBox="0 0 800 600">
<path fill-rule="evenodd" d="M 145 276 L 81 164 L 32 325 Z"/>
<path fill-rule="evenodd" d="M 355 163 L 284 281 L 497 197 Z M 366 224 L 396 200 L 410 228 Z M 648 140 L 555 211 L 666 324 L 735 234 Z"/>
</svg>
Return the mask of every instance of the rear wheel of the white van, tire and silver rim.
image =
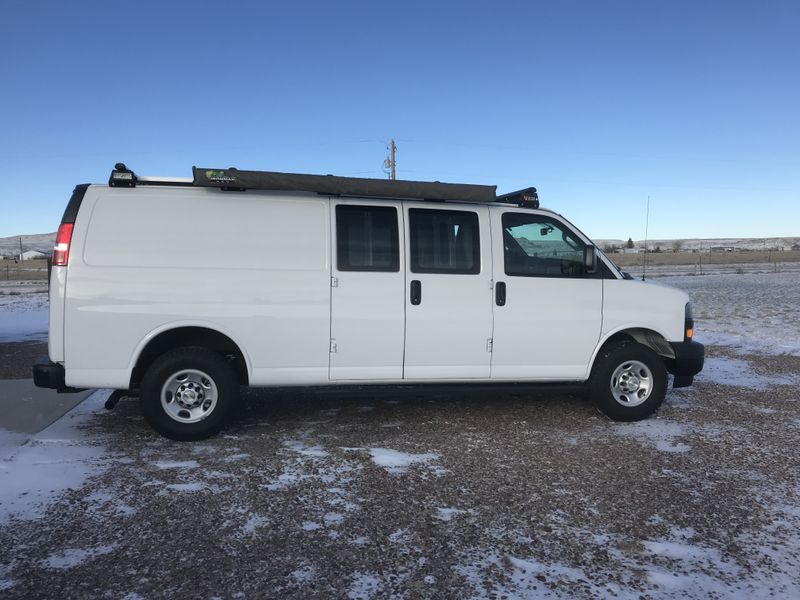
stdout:
<svg viewBox="0 0 800 600">
<path fill-rule="evenodd" d="M 142 414 L 177 441 L 217 434 L 239 400 L 239 381 L 225 359 L 206 348 L 177 348 L 159 356 L 142 379 Z"/>
</svg>

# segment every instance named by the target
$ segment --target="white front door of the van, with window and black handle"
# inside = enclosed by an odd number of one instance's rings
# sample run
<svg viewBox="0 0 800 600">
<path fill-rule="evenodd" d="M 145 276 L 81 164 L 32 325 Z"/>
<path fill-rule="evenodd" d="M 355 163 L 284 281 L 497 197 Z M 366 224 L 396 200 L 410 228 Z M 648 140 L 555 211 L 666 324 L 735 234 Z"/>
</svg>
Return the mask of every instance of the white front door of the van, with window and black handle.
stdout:
<svg viewBox="0 0 800 600">
<path fill-rule="evenodd" d="M 555 216 L 492 207 L 492 379 L 580 380 L 600 339 L 603 280 Z"/>
</svg>

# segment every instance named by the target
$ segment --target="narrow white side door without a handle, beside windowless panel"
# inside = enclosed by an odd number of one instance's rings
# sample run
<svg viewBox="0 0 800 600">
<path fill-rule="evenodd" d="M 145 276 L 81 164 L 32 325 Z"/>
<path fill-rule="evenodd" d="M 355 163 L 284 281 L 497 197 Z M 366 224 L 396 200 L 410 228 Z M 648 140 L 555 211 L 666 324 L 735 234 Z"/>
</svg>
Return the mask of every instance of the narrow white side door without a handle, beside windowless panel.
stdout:
<svg viewBox="0 0 800 600">
<path fill-rule="evenodd" d="M 332 202 L 332 380 L 403 378 L 402 203 Z"/>
</svg>

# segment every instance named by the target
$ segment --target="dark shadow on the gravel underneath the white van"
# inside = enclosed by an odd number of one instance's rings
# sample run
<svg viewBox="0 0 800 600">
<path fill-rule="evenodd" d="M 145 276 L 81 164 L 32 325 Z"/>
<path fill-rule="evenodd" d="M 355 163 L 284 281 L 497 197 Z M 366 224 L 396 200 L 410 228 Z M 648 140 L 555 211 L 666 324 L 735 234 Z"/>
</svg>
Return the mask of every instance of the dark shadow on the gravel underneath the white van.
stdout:
<svg viewBox="0 0 800 600">
<path fill-rule="evenodd" d="M 144 421 L 139 402 L 123 399 L 103 429 L 126 429 L 157 436 Z M 330 432 L 345 428 L 381 430 L 400 426 L 446 429 L 511 427 L 521 421 L 537 428 L 577 432 L 602 418 L 576 393 L 561 391 L 442 390 L 435 388 L 277 388 L 242 389 L 239 406 L 224 434 L 266 430 L 289 432 L 321 426 Z M 410 431 L 409 431 L 410 430 Z"/>
</svg>

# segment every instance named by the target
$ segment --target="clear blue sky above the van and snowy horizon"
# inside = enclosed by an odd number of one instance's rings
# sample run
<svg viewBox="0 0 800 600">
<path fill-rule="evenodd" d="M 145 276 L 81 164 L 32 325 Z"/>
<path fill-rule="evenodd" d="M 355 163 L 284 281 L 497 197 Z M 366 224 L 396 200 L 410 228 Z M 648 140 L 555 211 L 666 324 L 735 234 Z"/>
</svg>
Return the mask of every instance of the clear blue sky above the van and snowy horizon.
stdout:
<svg viewBox="0 0 800 600">
<path fill-rule="evenodd" d="M 800 4 L 17 2 L 0 236 L 124 161 L 528 185 L 595 238 L 800 235 Z"/>
</svg>

